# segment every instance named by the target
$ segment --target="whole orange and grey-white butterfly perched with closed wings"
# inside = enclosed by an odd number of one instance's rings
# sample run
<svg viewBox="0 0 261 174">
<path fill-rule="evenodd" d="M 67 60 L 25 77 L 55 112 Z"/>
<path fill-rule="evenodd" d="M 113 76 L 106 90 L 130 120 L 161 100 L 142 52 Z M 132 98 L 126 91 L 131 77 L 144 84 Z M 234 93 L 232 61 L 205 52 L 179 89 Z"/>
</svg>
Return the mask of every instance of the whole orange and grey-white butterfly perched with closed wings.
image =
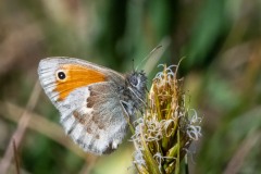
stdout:
<svg viewBox="0 0 261 174">
<path fill-rule="evenodd" d="M 126 115 L 132 119 L 142 110 L 144 71 L 121 74 L 80 59 L 53 57 L 39 62 L 38 75 L 65 133 L 84 151 L 111 153 L 126 135 Z"/>
</svg>

